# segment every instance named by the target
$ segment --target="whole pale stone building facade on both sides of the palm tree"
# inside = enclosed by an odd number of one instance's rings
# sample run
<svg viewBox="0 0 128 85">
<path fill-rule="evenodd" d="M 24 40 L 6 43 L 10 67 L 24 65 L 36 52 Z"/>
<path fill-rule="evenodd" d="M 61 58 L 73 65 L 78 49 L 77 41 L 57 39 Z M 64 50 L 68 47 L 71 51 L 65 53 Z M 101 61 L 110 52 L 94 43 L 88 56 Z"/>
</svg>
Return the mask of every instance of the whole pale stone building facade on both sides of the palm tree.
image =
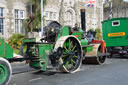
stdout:
<svg viewBox="0 0 128 85">
<path fill-rule="evenodd" d="M 48 0 L 44 8 L 45 25 L 58 21 L 62 25 L 81 26 L 80 9 L 86 9 L 86 28 L 101 28 L 103 0 L 95 0 L 94 7 L 86 6 L 89 0 Z M 13 33 L 25 33 L 27 0 L 0 0 L 0 33 L 9 38 Z"/>
</svg>

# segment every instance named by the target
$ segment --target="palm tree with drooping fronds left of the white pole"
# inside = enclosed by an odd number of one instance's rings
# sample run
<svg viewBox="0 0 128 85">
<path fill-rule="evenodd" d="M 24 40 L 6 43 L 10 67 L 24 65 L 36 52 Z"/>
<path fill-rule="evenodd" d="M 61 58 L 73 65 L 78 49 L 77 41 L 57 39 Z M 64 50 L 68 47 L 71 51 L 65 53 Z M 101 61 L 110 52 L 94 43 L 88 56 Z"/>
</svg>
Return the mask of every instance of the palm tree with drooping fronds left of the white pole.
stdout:
<svg viewBox="0 0 128 85">
<path fill-rule="evenodd" d="M 27 11 L 28 19 L 24 22 L 26 36 L 28 32 L 41 27 L 41 0 L 28 0 Z M 47 0 L 43 0 L 43 6 L 47 4 Z"/>
</svg>

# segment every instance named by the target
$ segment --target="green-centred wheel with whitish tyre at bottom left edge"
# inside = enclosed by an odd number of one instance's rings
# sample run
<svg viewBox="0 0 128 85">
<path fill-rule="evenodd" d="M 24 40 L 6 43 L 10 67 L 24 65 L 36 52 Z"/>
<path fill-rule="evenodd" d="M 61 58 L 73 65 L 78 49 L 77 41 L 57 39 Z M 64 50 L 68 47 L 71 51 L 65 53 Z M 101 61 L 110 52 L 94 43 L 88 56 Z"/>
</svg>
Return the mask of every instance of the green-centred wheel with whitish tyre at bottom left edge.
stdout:
<svg viewBox="0 0 128 85">
<path fill-rule="evenodd" d="M 7 85 L 11 79 L 12 68 L 10 63 L 4 59 L 0 58 L 0 85 Z"/>
</svg>

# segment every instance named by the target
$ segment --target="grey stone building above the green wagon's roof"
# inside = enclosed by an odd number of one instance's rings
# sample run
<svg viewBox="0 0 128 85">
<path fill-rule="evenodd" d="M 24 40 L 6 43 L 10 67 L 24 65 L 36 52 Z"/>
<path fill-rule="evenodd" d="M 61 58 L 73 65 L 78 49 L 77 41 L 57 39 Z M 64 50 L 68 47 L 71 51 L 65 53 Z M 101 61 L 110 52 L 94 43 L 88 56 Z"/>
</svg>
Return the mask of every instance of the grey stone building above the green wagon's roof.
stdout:
<svg viewBox="0 0 128 85">
<path fill-rule="evenodd" d="M 106 0 L 104 3 L 104 19 L 109 19 L 110 11 L 112 11 L 111 18 L 128 17 L 128 2 L 123 0 Z"/>
</svg>

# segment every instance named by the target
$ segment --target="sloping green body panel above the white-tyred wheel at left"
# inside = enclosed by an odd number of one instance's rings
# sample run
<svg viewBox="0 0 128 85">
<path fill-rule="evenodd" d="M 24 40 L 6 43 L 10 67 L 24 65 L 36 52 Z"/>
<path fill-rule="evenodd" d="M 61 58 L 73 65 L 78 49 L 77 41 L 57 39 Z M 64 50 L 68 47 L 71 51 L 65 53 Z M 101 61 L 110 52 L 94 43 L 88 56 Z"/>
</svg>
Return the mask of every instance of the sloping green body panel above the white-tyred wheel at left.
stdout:
<svg viewBox="0 0 128 85">
<path fill-rule="evenodd" d="M 0 38 L 0 57 L 6 59 L 13 58 L 13 49 L 5 42 L 3 38 Z"/>
</svg>

